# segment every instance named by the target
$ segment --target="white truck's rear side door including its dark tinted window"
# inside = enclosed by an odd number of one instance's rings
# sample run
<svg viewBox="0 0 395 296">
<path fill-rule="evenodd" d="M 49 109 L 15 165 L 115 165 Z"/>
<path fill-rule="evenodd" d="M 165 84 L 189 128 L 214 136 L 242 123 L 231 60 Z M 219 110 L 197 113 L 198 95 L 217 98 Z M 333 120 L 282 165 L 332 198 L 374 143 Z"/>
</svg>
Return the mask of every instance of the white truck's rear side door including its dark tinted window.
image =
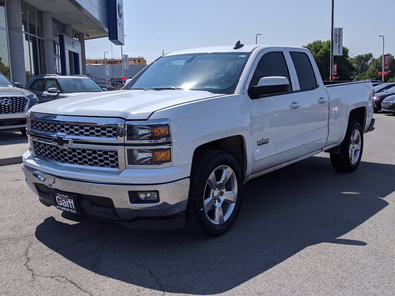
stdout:
<svg viewBox="0 0 395 296">
<path fill-rule="evenodd" d="M 303 104 L 302 151 L 301 156 L 322 149 L 328 136 L 329 99 L 324 84 L 310 52 L 290 51 L 295 72 L 296 89 Z"/>
</svg>

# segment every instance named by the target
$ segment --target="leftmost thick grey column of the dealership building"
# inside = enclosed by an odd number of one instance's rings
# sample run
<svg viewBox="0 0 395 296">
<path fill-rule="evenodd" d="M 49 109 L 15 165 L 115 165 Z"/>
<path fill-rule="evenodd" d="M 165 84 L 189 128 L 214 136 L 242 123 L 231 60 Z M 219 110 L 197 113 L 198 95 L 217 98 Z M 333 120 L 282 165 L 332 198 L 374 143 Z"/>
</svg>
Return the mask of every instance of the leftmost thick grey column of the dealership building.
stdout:
<svg viewBox="0 0 395 296">
<path fill-rule="evenodd" d="M 25 85 L 26 72 L 23 54 L 21 1 L 7 1 L 6 6 L 11 79 L 13 82 L 21 82 L 23 85 Z"/>
</svg>

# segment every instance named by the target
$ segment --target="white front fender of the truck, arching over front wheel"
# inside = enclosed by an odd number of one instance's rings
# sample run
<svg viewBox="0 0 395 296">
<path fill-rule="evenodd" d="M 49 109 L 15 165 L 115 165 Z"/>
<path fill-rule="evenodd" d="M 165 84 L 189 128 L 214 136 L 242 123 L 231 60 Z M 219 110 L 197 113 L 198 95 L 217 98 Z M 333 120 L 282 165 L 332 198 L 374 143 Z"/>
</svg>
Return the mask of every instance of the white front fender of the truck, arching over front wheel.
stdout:
<svg viewBox="0 0 395 296">
<path fill-rule="evenodd" d="M 245 140 L 247 167 L 252 170 L 251 113 L 244 95 L 233 94 L 176 105 L 154 112 L 149 119 L 168 118 L 173 138 L 173 165 L 192 163 L 202 144 L 240 135 Z"/>
</svg>

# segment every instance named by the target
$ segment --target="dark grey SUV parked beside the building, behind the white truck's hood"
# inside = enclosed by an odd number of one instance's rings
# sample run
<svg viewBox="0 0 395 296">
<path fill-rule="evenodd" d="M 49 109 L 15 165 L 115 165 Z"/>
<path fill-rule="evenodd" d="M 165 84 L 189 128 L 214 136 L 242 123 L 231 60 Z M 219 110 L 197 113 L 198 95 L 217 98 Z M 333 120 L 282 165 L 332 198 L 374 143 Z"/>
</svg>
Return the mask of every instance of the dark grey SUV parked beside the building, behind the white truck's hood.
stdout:
<svg viewBox="0 0 395 296">
<path fill-rule="evenodd" d="M 40 103 L 107 90 L 85 75 L 56 74 L 37 75 L 24 88 L 36 94 Z"/>
</svg>

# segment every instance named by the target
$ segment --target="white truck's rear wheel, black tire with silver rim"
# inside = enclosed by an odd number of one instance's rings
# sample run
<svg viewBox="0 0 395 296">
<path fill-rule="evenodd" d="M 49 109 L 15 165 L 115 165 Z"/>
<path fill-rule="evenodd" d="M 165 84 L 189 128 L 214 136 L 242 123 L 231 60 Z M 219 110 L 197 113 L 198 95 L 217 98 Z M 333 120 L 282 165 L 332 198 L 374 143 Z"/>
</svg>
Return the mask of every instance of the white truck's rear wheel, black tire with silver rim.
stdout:
<svg viewBox="0 0 395 296">
<path fill-rule="evenodd" d="M 340 146 L 340 153 L 331 153 L 331 163 L 339 172 L 353 172 L 361 163 L 363 152 L 363 132 L 356 121 L 348 122 L 344 140 Z"/>
</svg>

